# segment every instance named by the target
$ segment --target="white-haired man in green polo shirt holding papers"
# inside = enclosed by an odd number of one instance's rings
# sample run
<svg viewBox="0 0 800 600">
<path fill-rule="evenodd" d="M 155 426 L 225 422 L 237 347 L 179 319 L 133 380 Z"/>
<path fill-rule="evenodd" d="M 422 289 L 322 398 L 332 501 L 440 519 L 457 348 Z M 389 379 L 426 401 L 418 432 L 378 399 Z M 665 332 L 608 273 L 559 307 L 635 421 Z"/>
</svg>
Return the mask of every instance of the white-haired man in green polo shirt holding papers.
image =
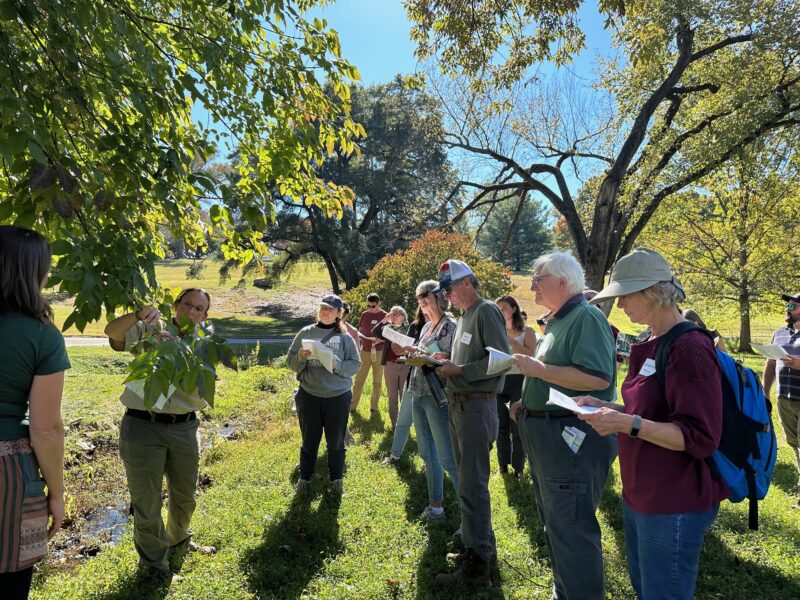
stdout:
<svg viewBox="0 0 800 600">
<path fill-rule="evenodd" d="M 535 355 L 514 355 L 526 378 L 511 414 L 531 465 L 551 555 L 554 600 L 605 597 L 595 511 L 617 456 L 617 440 L 600 436 L 574 413 L 546 404 L 550 388 L 567 396 L 614 398 L 611 330 L 603 313 L 587 304 L 583 289 L 583 269 L 571 254 L 538 258 L 531 290 L 552 316 Z"/>
</svg>

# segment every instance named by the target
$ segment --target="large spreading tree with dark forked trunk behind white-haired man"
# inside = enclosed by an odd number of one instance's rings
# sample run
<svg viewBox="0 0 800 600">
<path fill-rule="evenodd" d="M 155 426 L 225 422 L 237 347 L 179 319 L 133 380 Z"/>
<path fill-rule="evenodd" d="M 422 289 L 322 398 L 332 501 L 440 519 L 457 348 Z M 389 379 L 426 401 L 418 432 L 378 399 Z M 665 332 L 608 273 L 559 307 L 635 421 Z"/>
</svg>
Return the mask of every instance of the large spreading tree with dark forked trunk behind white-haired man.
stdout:
<svg viewBox="0 0 800 600">
<path fill-rule="evenodd" d="M 526 194 L 564 217 L 588 285 L 630 252 L 659 205 L 742 147 L 800 127 L 800 3 L 603 0 L 615 55 L 599 78 L 545 76 L 583 47 L 579 0 L 409 0 L 417 53 L 474 169 L 464 210 Z M 591 219 L 570 182 L 599 178 Z M 461 213 L 458 213 L 459 215 Z"/>
</svg>

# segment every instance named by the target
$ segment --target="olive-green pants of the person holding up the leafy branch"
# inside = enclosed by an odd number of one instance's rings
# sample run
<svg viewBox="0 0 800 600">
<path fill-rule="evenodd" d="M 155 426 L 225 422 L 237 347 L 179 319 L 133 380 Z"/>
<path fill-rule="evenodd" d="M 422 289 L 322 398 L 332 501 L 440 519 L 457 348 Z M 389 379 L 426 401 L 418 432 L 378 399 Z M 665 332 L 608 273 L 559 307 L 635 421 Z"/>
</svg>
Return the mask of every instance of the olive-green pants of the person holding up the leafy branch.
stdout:
<svg viewBox="0 0 800 600">
<path fill-rule="evenodd" d="M 144 567 L 168 570 L 167 551 L 191 536 L 199 449 L 197 420 L 167 425 L 125 415 L 119 450 L 133 508 L 133 542 Z M 167 526 L 161 486 L 167 476 Z"/>
</svg>

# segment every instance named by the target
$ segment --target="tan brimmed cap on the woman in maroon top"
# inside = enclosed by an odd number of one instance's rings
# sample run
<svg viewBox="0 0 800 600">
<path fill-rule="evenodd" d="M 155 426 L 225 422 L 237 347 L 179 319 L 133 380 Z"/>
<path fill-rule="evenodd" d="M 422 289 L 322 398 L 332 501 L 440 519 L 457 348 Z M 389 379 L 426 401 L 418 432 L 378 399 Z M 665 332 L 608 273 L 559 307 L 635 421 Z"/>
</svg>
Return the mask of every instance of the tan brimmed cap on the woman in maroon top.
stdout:
<svg viewBox="0 0 800 600">
<path fill-rule="evenodd" d="M 681 300 L 686 300 L 683 286 L 672 274 L 664 257 L 655 250 L 636 248 L 617 261 L 611 270 L 611 281 L 589 303 L 598 304 L 609 298 L 641 292 L 661 281 L 674 285 Z"/>
</svg>

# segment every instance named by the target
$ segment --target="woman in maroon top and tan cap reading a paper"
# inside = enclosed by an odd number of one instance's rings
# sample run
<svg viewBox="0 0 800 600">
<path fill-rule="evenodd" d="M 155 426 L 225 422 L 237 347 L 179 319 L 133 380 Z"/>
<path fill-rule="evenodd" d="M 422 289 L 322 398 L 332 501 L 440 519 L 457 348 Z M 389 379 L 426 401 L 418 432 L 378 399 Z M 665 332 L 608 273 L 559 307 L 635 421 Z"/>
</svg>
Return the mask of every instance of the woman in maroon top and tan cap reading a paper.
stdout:
<svg viewBox="0 0 800 600">
<path fill-rule="evenodd" d="M 691 599 L 703 538 L 728 496 L 706 462 L 722 434 L 722 379 L 708 336 L 692 331 L 668 354 L 665 386 L 656 377 L 659 338 L 685 319 L 680 283 L 657 252 L 637 248 L 614 266 L 592 303 L 619 298 L 651 336 L 631 347 L 624 405 L 575 398 L 597 412 L 581 415 L 601 435 L 618 435 L 628 572 L 640 599 Z"/>
</svg>

